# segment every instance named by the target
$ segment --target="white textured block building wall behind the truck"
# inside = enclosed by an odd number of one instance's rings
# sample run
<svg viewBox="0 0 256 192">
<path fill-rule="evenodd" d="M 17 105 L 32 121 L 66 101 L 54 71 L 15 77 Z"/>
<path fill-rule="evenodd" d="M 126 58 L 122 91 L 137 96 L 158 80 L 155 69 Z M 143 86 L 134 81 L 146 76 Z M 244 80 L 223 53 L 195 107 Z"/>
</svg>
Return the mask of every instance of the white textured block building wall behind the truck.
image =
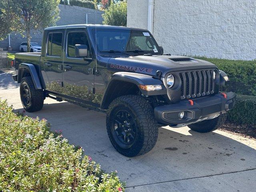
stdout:
<svg viewBox="0 0 256 192">
<path fill-rule="evenodd" d="M 138 14 L 148 12 L 147 2 L 128 0 L 128 26 L 147 28 L 147 15 Z M 154 3 L 153 34 L 165 53 L 256 59 L 256 0 L 154 0 Z M 137 6 L 134 14 L 132 7 Z"/>
</svg>

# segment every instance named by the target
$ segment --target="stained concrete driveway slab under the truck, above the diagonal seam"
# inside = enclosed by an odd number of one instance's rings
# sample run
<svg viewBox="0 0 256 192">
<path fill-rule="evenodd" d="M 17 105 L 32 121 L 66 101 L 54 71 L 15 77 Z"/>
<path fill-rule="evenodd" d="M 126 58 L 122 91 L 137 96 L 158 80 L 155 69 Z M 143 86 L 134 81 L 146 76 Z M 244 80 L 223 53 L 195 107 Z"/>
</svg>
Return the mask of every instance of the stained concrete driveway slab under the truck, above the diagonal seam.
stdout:
<svg viewBox="0 0 256 192">
<path fill-rule="evenodd" d="M 60 102 L 26 115 L 48 119 L 53 131 L 62 130 L 70 143 L 82 146 L 103 170 L 118 170 L 127 187 L 256 168 L 256 141 L 220 130 L 201 134 L 188 127 L 159 128 L 156 146 L 129 158 L 112 147 L 103 113 Z"/>
</svg>

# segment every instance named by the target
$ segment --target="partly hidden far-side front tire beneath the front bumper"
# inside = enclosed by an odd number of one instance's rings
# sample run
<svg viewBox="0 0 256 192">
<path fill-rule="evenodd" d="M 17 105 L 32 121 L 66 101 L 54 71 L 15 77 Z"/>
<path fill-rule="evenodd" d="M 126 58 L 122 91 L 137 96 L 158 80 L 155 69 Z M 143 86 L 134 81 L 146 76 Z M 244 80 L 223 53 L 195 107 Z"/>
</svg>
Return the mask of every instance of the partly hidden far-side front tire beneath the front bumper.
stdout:
<svg viewBox="0 0 256 192">
<path fill-rule="evenodd" d="M 220 114 L 218 117 L 210 120 L 204 120 L 198 123 L 188 125 L 188 127 L 199 133 L 208 133 L 218 129 L 222 124 L 225 123 L 227 114 Z"/>
</svg>

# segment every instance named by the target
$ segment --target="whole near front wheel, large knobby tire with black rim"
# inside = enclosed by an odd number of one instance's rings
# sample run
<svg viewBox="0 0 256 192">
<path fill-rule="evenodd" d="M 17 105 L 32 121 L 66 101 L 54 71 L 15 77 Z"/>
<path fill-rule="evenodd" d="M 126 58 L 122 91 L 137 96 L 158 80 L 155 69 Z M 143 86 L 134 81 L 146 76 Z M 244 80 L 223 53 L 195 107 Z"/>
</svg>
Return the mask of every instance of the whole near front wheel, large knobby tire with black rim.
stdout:
<svg viewBox="0 0 256 192">
<path fill-rule="evenodd" d="M 152 106 L 136 95 L 121 96 L 111 102 L 106 127 L 114 148 L 127 157 L 149 152 L 158 138 Z"/>
</svg>

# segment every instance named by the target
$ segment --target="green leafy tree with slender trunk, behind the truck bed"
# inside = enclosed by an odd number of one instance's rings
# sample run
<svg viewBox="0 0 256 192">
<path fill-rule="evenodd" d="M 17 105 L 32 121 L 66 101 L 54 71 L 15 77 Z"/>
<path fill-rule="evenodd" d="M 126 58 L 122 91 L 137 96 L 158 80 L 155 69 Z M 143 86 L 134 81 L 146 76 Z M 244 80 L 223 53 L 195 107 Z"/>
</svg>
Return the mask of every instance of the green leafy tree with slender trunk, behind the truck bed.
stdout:
<svg viewBox="0 0 256 192">
<path fill-rule="evenodd" d="M 59 19 L 59 4 L 60 0 L 1 0 L 0 18 L 12 26 L 7 33 L 14 31 L 26 36 L 30 52 L 31 31 L 53 26 Z"/>
</svg>

